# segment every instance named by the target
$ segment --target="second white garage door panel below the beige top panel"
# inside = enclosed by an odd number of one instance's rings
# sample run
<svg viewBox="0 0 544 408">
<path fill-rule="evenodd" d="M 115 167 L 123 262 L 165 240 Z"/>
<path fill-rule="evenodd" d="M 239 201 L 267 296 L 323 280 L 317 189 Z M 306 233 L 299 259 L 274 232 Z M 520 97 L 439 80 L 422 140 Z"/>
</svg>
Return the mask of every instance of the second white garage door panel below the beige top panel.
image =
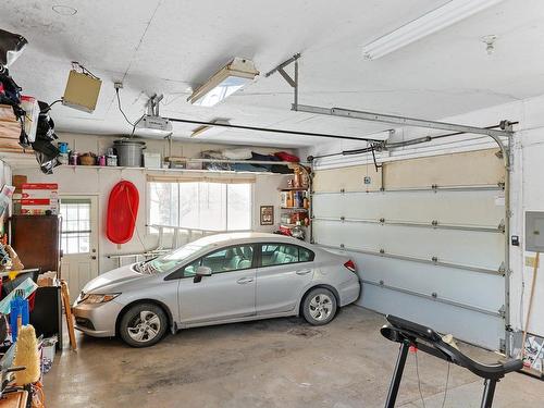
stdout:
<svg viewBox="0 0 544 408">
<path fill-rule="evenodd" d="M 313 222 L 318 244 L 364 249 L 498 270 L 504 259 L 504 237 L 498 233 L 381 225 L 358 222 Z"/>
</svg>

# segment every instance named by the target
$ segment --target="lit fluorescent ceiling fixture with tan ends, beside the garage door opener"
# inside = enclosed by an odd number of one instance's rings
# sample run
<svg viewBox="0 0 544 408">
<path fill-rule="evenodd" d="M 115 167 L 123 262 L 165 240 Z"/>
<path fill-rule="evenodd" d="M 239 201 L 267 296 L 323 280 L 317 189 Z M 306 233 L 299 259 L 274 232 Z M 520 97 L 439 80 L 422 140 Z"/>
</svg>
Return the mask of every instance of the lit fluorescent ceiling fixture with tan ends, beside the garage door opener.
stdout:
<svg viewBox="0 0 544 408">
<path fill-rule="evenodd" d="M 196 89 L 187 101 L 200 107 L 213 107 L 252 82 L 257 75 L 259 72 L 252 61 L 235 58 Z"/>
</svg>

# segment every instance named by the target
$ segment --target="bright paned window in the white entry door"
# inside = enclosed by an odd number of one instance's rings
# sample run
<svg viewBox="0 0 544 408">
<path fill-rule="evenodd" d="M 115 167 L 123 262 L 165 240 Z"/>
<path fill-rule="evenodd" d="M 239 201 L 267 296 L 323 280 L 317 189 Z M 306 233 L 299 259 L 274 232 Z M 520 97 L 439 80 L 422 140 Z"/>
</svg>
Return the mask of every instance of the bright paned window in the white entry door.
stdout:
<svg viewBox="0 0 544 408">
<path fill-rule="evenodd" d="M 90 200 L 62 199 L 61 248 L 64 254 L 90 252 Z"/>
</svg>

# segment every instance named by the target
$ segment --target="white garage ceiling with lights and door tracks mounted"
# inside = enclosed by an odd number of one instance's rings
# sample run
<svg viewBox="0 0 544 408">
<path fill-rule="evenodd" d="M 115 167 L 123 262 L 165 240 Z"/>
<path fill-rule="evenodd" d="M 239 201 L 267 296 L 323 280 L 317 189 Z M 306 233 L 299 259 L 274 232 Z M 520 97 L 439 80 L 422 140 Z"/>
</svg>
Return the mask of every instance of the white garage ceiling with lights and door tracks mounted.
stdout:
<svg viewBox="0 0 544 408">
<path fill-rule="evenodd" d="M 544 94 L 542 0 L 505 0 L 380 60 L 362 58 L 364 44 L 445 2 L 2 0 L 0 28 L 28 39 L 11 70 L 25 94 L 59 99 L 71 61 L 103 81 L 95 113 L 54 106 L 57 129 L 66 132 L 128 133 L 114 98 L 120 79 L 133 120 L 147 95 L 163 92 L 161 113 L 173 118 L 351 136 L 387 127 L 292 112 L 292 90 L 277 74 L 211 109 L 187 103 L 188 88 L 233 57 L 252 59 L 264 74 L 301 52 L 299 102 L 322 107 L 440 119 Z M 55 4 L 77 13 L 60 15 Z M 491 34 L 498 39 L 489 55 L 481 37 Z M 176 124 L 174 135 L 188 138 L 195 127 Z M 201 140 L 295 147 L 327 139 L 227 131 Z"/>
</svg>

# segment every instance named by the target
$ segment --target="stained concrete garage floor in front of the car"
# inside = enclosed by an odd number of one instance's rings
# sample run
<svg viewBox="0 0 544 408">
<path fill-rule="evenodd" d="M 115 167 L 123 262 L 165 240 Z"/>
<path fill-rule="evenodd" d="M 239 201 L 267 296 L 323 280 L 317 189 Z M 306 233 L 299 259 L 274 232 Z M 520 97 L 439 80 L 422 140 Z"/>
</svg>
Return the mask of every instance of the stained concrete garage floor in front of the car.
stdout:
<svg viewBox="0 0 544 408">
<path fill-rule="evenodd" d="M 190 329 L 147 349 L 81 336 L 45 378 L 57 407 L 383 407 L 397 346 L 383 317 L 350 306 L 326 326 L 297 318 Z M 467 347 L 481 359 L 485 354 Z M 493 356 L 492 356 L 493 357 Z M 441 407 L 447 364 L 419 355 L 426 408 Z M 445 407 L 479 407 L 482 381 L 452 366 Z M 543 407 L 544 383 L 512 373 L 494 407 Z M 397 407 L 423 407 L 415 356 Z"/>
</svg>

